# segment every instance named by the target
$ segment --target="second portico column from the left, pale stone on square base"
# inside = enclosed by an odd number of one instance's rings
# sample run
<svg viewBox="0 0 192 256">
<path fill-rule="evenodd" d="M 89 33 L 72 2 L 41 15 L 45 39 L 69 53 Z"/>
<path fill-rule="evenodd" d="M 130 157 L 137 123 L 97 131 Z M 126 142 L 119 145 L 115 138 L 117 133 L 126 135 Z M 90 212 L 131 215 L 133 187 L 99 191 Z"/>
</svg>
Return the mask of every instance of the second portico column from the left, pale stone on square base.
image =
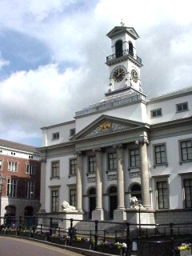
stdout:
<svg viewBox="0 0 192 256">
<path fill-rule="evenodd" d="M 96 152 L 96 208 L 92 212 L 92 219 L 103 220 L 102 209 L 102 150 Z"/>
</svg>

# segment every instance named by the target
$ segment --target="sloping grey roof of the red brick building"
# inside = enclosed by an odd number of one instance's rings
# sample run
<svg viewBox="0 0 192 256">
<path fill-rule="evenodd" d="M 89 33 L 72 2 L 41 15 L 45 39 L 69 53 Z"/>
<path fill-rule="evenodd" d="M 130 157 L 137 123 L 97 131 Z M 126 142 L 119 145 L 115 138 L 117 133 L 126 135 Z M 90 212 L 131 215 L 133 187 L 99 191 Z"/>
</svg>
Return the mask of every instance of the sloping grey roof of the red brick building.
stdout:
<svg viewBox="0 0 192 256">
<path fill-rule="evenodd" d="M 2 138 L 0 138 L 0 147 L 6 147 L 6 148 L 13 149 L 13 150 L 23 150 L 23 151 L 28 151 L 31 153 L 38 153 L 38 150 L 34 146 L 21 144 L 18 142 L 10 142 L 10 141 L 6 141 L 5 139 L 2 139 Z"/>
</svg>

